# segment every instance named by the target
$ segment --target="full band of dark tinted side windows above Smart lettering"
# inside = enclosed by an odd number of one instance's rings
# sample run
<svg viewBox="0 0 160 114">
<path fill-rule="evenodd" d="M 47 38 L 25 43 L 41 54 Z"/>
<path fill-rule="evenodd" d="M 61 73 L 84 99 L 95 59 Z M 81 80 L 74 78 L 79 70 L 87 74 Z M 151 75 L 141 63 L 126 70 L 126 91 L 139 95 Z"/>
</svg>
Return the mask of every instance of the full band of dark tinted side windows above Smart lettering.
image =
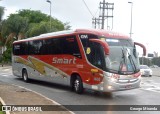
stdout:
<svg viewBox="0 0 160 114">
<path fill-rule="evenodd" d="M 14 44 L 15 55 L 54 55 L 69 54 L 81 58 L 75 36 L 33 40 Z"/>
</svg>

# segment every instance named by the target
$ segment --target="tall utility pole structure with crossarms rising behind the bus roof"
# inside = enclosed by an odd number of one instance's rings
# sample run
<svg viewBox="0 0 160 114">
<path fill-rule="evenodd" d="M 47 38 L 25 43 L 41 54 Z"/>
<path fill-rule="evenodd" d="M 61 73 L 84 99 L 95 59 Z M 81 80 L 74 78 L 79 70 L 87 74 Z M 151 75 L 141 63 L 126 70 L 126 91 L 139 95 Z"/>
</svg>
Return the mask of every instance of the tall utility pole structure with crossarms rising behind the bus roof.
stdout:
<svg viewBox="0 0 160 114">
<path fill-rule="evenodd" d="M 94 28 L 97 28 L 97 25 L 99 28 L 104 29 L 105 27 L 105 19 L 107 19 L 107 29 L 109 26 L 109 18 L 112 18 L 112 29 L 113 29 L 113 10 L 114 10 L 114 3 L 108 3 L 103 0 L 103 2 L 99 3 L 100 5 L 100 14 L 99 18 L 93 18 L 92 24 L 94 25 Z"/>
</svg>

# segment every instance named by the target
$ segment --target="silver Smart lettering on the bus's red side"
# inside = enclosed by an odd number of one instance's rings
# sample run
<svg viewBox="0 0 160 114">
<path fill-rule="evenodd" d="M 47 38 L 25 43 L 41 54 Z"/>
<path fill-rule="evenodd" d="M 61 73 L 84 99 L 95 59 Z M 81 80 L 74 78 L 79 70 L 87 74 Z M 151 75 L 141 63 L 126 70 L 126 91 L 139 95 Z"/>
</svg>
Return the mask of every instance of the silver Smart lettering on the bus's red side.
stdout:
<svg viewBox="0 0 160 114">
<path fill-rule="evenodd" d="M 76 58 L 74 57 L 73 59 L 66 59 L 66 58 L 53 58 L 54 64 L 76 64 Z"/>
</svg>

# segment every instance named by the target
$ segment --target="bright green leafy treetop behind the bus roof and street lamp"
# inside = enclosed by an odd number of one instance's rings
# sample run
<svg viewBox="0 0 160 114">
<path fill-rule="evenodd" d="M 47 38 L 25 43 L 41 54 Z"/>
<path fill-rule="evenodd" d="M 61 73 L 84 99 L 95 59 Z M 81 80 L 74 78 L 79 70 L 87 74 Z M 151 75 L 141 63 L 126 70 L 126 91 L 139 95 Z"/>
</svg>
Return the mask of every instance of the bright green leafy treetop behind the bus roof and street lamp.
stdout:
<svg viewBox="0 0 160 114">
<path fill-rule="evenodd" d="M 69 23 L 62 23 L 58 19 L 51 17 L 50 29 L 50 16 L 43 14 L 40 11 L 19 10 L 18 15 L 29 20 L 29 28 L 25 34 L 26 37 L 33 37 L 48 32 L 67 30 L 71 28 Z"/>
</svg>

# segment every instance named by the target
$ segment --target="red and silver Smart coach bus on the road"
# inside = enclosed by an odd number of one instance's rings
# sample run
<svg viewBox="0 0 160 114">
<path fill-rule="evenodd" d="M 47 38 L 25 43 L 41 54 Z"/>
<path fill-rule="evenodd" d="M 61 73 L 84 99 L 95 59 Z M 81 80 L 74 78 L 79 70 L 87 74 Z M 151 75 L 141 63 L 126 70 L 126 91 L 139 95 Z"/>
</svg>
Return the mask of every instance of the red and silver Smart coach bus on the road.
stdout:
<svg viewBox="0 0 160 114">
<path fill-rule="evenodd" d="M 25 82 L 42 80 L 100 92 L 140 87 L 136 47 L 143 44 L 116 32 L 76 29 L 13 42 L 12 69 Z"/>
</svg>

